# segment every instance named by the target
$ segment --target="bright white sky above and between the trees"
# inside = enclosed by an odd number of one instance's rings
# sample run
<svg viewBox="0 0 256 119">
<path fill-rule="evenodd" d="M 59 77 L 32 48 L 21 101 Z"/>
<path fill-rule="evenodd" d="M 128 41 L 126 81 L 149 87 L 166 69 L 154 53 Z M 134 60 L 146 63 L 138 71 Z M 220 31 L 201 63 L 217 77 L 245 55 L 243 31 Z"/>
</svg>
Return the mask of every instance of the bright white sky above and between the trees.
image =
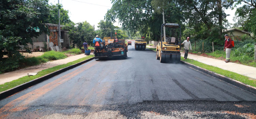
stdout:
<svg viewBox="0 0 256 119">
<path fill-rule="evenodd" d="M 98 23 L 104 19 L 106 12 L 111 8 L 112 0 L 59 0 L 65 10 L 69 11 L 69 18 L 71 21 L 78 23 L 87 21 L 91 25 L 95 25 L 95 30 L 98 29 Z M 49 0 L 49 3 L 57 4 L 58 0 Z M 241 5 L 240 5 L 241 6 Z M 232 19 L 234 17 L 234 10 L 225 10 L 227 19 L 230 23 L 235 23 Z M 114 26 L 121 27 L 120 23 L 114 23 Z"/>
</svg>

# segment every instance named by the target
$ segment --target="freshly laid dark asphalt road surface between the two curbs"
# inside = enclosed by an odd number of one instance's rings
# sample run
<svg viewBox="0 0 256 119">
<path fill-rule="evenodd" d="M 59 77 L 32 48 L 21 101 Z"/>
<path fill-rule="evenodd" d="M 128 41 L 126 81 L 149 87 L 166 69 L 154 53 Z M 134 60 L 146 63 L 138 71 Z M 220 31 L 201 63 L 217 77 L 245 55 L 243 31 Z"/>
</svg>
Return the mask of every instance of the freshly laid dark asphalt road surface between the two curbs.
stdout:
<svg viewBox="0 0 256 119">
<path fill-rule="evenodd" d="M 0 118 L 256 118 L 256 95 L 128 48 L 127 58 L 92 60 L 0 100 Z"/>
</svg>

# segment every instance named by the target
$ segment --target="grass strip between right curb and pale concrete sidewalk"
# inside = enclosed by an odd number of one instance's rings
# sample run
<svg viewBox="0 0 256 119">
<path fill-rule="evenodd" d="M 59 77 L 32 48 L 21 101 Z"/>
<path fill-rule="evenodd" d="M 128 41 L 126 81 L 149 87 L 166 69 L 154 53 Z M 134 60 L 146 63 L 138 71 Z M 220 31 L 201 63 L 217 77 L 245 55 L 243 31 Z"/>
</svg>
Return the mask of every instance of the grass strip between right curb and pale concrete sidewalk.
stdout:
<svg viewBox="0 0 256 119">
<path fill-rule="evenodd" d="M 181 61 L 196 65 L 198 67 L 207 69 L 209 71 L 213 71 L 215 73 L 224 75 L 225 77 L 228 77 L 228 78 L 240 81 L 242 83 L 245 83 L 247 85 L 251 85 L 253 87 L 256 87 L 256 81 L 255 80 L 250 80 L 248 77 L 246 77 L 244 75 L 234 73 L 234 72 L 231 72 L 231 71 L 228 71 L 228 70 L 224 70 L 224 69 L 221 69 L 221 68 L 218 68 L 218 67 L 210 66 L 210 65 L 207 65 L 207 64 L 203 64 L 203 63 L 195 61 L 195 60 L 191 60 L 191 59 L 184 60 L 183 58 L 184 57 L 181 57 Z"/>
</svg>

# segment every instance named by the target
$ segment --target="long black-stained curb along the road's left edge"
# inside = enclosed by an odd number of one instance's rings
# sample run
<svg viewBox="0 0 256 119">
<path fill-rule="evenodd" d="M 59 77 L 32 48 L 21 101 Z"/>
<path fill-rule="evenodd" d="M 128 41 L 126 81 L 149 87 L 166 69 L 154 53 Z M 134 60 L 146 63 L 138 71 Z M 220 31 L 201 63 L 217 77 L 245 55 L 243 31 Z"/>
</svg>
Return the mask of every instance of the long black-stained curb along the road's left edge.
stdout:
<svg viewBox="0 0 256 119">
<path fill-rule="evenodd" d="M 42 82 L 42 81 L 45 81 L 45 80 L 47 80 L 47 79 L 49 79 L 49 78 L 52 78 L 52 77 L 54 77 L 55 75 L 58 75 L 58 74 L 60 74 L 60 73 L 62 73 L 62 72 L 64 72 L 64 71 L 67 71 L 67 70 L 72 69 L 72 68 L 75 68 L 75 67 L 77 67 L 77 66 L 79 66 L 79 65 L 81 65 L 81 64 L 84 64 L 84 63 L 86 63 L 86 62 L 88 62 L 88 61 L 91 61 L 91 60 L 93 60 L 93 59 L 94 59 L 94 57 L 91 57 L 91 58 L 89 58 L 89 59 L 87 59 L 87 60 L 85 60 L 85 61 L 76 63 L 76 64 L 71 65 L 71 66 L 68 66 L 68 67 L 65 67 L 65 68 L 63 68 L 63 69 L 57 70 L 57 71 L 52 72 L 52 73 L 49 73 L 49 74 L 47 74 L 47 75 L 44 75 L 44 76 L 42 76 L 42 77 L 40 77 L 40 78 L 34 79 L 34 80 L 29 81 L 29 82 L 27 82 L 27 83 L 20 84 L 20 85 L 18 85 L 18 86 L 16 86 L 16 87 L 13 87 L 13 88 L 11 88 L 11 89 L 8 89 L 8 90 L 5 90 L 5 91 L 3 91 L 3 92 L 0 92 L 0 100 L 1 100 L 1 99 L 4 99 L 4 98 L 7 98 L 7 97 L 9 97 L 9 96 L 11 96 L 11 95 L 13 95 L 13 94 L 19 92 L 19 91 L 22 91 L 22 90 L 24 90 L 24 89 L 26 89 L 26 88 L 28 88 L 28 87 L 33 86 L 33 85 L 35 85 L 35 84 L 38 84 L 38 83 L 40 83 L 40 82 Z"/>
</svg>

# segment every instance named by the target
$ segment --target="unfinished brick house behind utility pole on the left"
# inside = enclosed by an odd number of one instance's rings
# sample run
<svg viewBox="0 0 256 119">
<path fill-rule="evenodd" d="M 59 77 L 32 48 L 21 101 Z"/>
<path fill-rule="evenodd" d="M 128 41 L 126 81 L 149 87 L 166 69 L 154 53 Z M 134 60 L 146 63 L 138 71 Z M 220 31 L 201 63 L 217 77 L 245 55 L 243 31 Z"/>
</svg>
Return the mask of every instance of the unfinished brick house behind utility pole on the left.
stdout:
<svg viewBox="0 0 256 119">
<path fill-rule="evenodd" d="M 54 45 L 59 46 L 58 37 L 59 29 L 58 24 L 46 23 L 45 26 L 50 30 L 50 34 L 42 33 L 38 37 L 33 37 L 33 44 L 28 44 L 31 49 L 43 48 L 44 50 L 50 50 L 50 47 Z M 68 48 L 70 46 L 70 39 L 68 37 L 68 30 L 63 30 L 64 25 L 60 25 L 60 36 L 63 39 L 61 43 L 62 48 Z M 47 48 L 45 48 L 45 45 Z"/>
</svg>

